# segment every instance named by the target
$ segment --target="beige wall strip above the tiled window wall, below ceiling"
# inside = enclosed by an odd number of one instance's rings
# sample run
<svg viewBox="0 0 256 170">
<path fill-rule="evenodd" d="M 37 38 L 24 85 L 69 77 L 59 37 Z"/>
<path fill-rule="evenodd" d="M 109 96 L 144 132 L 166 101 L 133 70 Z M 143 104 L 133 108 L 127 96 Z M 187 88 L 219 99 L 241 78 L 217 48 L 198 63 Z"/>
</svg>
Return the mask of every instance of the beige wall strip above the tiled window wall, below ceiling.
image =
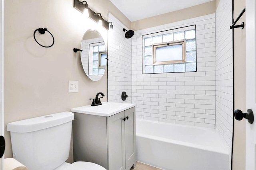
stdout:
<svg viewBox="0 0 256 170">
<path fill-rule="evenodd" d="M 176 21 L 187 20 L 190 18 L 213 14 L 215 12 L 216 12 L 216 2 L 214 0 L 214 1 L 206 2 L 204 4 L 192 6 L 190 8 L 169 12 L 166 14 L 145 18 L 138 21 L 133 21 L 132 29 L 136 31 L 140 29 L 163 25 L 166 23 L 172 23 Z"/>
</svg>

